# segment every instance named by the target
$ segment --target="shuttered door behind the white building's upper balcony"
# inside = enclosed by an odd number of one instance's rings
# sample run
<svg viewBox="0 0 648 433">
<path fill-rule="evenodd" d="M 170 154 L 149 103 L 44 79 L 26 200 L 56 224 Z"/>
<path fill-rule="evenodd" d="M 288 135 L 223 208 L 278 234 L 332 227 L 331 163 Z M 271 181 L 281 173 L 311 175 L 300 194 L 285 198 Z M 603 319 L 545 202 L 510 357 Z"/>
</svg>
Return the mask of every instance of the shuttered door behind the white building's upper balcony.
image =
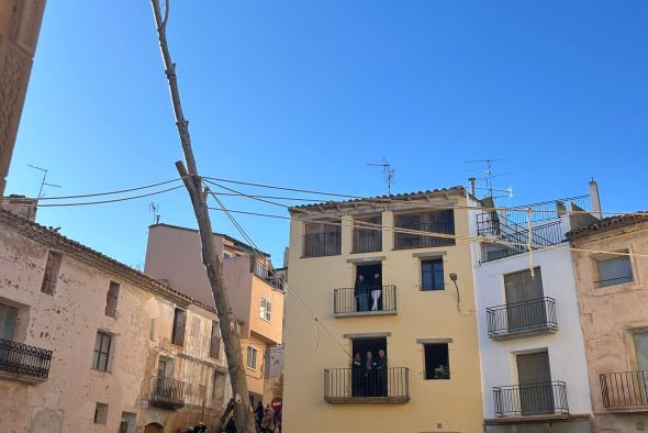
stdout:
<svg viewBox="0 0 648 433">
<path fill-rule="evenodd" d="M 509 332 L 544 326 L 547 323 L 543 275 L 534 269 L 535 278 L 526 269 L 504 276 Z"/>
</svg>

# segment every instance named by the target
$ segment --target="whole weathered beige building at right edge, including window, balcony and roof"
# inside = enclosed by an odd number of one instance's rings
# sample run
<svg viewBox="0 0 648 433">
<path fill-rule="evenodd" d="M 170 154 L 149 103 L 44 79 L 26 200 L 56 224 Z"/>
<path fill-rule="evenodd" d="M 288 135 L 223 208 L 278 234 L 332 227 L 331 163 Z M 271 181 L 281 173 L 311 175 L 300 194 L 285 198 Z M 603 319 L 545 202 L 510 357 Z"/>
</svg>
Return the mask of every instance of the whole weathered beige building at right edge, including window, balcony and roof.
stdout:
<svg viewBox="0 0 648 433">
<path fill-rule="evenodd" d="M 594 431 L 648 430 L 648 213 L 606 218 L 568 238 L 578 248 Z"/>
</svg>

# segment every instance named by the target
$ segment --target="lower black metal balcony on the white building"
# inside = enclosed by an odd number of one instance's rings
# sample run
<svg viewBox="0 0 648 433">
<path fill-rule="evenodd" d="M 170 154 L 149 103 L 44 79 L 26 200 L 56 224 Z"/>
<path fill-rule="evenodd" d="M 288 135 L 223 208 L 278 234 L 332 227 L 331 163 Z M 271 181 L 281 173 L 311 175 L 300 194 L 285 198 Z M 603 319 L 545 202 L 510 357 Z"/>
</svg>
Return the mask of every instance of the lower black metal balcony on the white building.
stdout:
<svg viewBox="0 0 648 433">
<path fill-rule="evenodd" d="M 493 388 L 495 417 L 568 415 L 563 381 Z"/>
</svg>

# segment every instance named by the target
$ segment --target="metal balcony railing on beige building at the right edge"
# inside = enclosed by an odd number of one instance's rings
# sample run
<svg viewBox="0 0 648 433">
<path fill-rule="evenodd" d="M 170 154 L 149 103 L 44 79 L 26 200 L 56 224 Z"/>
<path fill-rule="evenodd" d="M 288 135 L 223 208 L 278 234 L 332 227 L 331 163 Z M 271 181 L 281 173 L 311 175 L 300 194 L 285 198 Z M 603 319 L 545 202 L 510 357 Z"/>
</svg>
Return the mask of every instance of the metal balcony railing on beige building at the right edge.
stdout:
<svg viewBox="0 0 648 433">
<path fill-rule="evenodd" d="M 648 371 L 599 375 L 603 406 L 610 411 L 648 411 Z"/>
</svg>

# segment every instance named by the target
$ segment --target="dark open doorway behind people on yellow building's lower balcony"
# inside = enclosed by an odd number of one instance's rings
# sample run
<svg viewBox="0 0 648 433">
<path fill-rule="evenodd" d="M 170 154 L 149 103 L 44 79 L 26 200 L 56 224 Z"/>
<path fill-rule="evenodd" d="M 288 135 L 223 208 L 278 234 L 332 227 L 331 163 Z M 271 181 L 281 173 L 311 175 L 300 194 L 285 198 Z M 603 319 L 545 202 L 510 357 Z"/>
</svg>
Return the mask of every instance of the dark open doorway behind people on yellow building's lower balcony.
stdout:
<svg viewBox="0 0 648 433">
<path fill-rule="evenodd" d="M 389 365 L 387 362 L 381 363 L 379 356 L 379 352 L 383 351 L 387 359 L 387 337 L 354 338 L 351 346 L 354 356 L 360 354 L 360 367 L 351 371 L 351 396 L 387 397 Z"/>
</svg>

